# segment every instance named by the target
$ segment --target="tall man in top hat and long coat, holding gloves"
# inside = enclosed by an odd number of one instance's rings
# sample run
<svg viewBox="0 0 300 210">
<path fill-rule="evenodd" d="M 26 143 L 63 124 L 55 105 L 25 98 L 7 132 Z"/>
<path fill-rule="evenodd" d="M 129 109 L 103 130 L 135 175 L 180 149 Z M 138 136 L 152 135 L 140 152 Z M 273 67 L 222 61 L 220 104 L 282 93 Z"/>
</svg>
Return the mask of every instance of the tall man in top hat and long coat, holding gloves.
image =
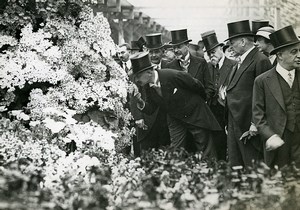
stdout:
<svg viewBox="0 0 300 210">
<path fill-rule="evenodd" d="M 252 166 L 253 160 L 262 159 L 259 138 L 250 138 L 257 132 L 252 122 L 253 84 L 258 75 L 271 68 L 271 63 L 254 47 L 248 20 L 228 23 L 227 27 L 231 47 L 240 56 L 226 89 L 228 158 L 231 166 Z"/>
</svg>

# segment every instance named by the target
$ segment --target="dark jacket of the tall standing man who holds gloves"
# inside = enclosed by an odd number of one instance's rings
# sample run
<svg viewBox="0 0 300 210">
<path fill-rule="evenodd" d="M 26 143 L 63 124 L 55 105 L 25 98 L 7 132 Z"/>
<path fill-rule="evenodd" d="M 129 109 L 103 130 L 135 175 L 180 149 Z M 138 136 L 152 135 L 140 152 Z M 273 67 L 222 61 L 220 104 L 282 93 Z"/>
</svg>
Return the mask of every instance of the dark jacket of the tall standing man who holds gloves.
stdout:
<svg viewBox="0 0 300 210">
<path fill-rule="evenodd" d="M 271 69 L 269 58 L 254 48 L 246 56 L 240 68 L 233 69 L 233 76 L 229 79 L 226 104 L 228 112 L 239 125 L 236 136 L 248 131 L 252 122 L 252 95 L 255 78 Z"/>
</svg>

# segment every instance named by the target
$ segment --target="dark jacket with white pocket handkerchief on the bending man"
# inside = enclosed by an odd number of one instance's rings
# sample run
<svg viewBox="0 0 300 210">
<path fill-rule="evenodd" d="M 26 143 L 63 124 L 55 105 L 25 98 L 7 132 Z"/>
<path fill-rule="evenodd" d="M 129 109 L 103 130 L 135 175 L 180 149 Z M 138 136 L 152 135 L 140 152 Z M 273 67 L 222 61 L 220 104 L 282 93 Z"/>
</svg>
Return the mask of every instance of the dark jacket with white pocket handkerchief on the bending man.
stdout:
<svg viewBox="0 0 300 210">
<path fill-rule="evenodd" d="M 221 130 L 203 99 L 205 90 L 199 80 L 183 71 L 161 69 L 157 72 L 162 97 L 147 85 L 147 100 L 143 112 L 151 114 L 159 106 L 171 117 L 183 122 L 209 130 Z"/>
</svg>

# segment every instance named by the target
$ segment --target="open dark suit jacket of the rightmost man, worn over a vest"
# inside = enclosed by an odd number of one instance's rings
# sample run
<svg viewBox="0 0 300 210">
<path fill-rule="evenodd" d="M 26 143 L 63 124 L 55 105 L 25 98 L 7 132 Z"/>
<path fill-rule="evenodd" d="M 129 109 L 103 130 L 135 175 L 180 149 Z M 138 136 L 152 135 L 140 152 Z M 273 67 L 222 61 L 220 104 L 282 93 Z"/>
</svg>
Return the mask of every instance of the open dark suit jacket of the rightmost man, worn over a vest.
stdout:
<svg viewBox="0 0 300 210">
<path fill-rule="evenodd" d="M 300 69 L 297 69 L 294 82 L 300 86 Z M 276 67 L 255 79 L 253 89 L 253 121 L 265 143 L 272 135 L 282 137 L 286 127 L 287 115 L 283 94 L 278 80 Z M 273 162 L 275 152 L 265 152 L 268 165 Z"/>
</svg>

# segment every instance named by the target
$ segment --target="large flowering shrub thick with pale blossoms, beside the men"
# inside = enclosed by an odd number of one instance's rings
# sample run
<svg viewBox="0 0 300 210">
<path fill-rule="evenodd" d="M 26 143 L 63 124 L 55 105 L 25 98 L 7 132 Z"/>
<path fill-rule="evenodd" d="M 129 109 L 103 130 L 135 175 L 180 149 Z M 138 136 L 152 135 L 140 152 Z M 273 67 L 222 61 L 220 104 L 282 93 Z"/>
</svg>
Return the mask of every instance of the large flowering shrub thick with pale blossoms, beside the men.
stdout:
<svg viewBox="0 0 300 210">
<path fill-rule="evenodd" d="M 79 147 L 89 138 L 79 134 L 85 129 L 97 133 L 92 139 L 98 146 L 121 150 L 133 134 L 124 106 L 131 88 L 112 58 L 116 45 L 108 21 L 93 12 L 93 5 L 97 1 L 5 1 L 0 12 L 5 29 L 0 33 L 0 111 L 23 109 L 29 121 L 42 122 Z M 72 110 L 79 122 L 69 125 L 65 116 L 46 113 L 48 108 Z M 91 112 L 103 115 L 106 125 Z M 107 120 L 113 117 L 118 124 Z M 108 146 L 109 140 L 116 147 Z"/>
</svg>

